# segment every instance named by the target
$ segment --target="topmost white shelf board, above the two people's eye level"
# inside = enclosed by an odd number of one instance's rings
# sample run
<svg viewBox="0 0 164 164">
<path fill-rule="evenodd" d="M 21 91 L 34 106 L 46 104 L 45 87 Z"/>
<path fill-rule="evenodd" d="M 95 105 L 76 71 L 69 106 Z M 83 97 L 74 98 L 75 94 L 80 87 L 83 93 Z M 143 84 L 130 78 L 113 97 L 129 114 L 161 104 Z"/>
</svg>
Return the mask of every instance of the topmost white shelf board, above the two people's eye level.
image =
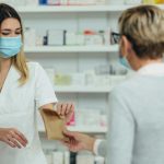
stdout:
<svg viewBox="0 0 164 164">
<path fill-rule="evenodd" d="M 32 5 L 17 7 L 20 13 L 57 13 L 57 12 L 120 12 L 134 5 Z M 157 5 L 164 9 L 164 4 Z"/>
</svg>

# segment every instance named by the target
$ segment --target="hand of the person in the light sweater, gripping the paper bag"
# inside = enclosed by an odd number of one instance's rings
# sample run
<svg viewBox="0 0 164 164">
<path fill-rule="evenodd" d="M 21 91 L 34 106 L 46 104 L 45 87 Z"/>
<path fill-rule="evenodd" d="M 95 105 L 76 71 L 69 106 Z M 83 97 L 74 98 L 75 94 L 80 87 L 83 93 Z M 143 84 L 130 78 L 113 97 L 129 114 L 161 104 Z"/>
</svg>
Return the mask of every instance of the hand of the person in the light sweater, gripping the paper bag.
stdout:
<svg viewBox="0 0 164 164">
<path fill-rule="evenodd" d="M 69 139 L 63 141 L 63 144 L 72 152 L 87 150 L 93 152 L 95 139 L 80 132 L 63 131 L 63 134 Z"/>
</svg>

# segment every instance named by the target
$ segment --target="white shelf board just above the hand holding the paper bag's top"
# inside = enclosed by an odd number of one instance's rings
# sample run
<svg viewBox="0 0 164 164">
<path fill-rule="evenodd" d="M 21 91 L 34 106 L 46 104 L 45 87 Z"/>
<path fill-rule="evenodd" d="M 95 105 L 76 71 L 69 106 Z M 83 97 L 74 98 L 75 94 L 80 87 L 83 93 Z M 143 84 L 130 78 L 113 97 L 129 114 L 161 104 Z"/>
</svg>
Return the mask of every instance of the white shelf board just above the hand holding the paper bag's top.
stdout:
<svg viewBox="0 0 164 164">
<path fill-rule="evenodd" d="M 109 93 L 114 86 L 55 86 L 58 93 Z"/>
</svg>

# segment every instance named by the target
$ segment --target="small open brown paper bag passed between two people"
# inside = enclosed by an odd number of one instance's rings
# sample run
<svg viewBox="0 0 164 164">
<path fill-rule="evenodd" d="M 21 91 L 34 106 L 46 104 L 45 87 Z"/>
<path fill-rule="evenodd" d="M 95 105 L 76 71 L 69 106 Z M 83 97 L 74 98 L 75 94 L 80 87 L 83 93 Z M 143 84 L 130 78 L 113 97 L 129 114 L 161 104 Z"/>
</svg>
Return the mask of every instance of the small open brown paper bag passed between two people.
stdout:
<svg viewBox="0 0 164 164">
<path fill-rule="evenodd" d="M 60 118 L 59 115 L 48 108 L 40 109 L 40 115 L 44 120 L 46 134 L 48 140 L 63 140 L 66 137 L 62 131 L 65 129 L 65 119 Z"/>
</svg>

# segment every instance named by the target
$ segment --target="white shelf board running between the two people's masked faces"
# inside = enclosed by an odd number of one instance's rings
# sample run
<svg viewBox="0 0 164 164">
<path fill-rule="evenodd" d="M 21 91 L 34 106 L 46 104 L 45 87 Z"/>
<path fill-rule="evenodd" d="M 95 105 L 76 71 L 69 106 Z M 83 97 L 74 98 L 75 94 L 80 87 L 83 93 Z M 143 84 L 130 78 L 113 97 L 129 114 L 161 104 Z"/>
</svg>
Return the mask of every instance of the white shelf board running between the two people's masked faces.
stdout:
<svg viewBox="0 0 164 164">
<path fill-rule="evenodd" d="M 118 45 L 110 46 L 37 46 L 25 47 L 25 52 L 117 52 Z"/>
</svg>

